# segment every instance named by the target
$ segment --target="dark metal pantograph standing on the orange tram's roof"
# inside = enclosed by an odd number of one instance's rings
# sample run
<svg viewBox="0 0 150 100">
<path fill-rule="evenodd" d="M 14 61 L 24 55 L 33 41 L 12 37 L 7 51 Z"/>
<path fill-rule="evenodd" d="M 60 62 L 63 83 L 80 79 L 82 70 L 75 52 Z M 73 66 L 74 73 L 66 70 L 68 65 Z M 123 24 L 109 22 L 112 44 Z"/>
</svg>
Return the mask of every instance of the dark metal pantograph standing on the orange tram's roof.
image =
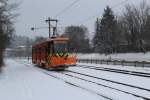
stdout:
<svg viewBox="0 0 150 100">
<path fill-rule="evenodd" d="M 52 37 L 53 36 L 56 36 L 56 32 L 57 32 L 57 22 L 58 20 L 57 19 L 51 19 L 50 17 L 45 20 L 46 22 L 48 22 L 48 25 L 49 25 L 49 38 L 51 38 L 51 28 L 53 28 L 53 34 L 52 34 Z M 51 26 L 51 22 L 56 22 L 55 23 L 55 26 Z"/>
</svg>

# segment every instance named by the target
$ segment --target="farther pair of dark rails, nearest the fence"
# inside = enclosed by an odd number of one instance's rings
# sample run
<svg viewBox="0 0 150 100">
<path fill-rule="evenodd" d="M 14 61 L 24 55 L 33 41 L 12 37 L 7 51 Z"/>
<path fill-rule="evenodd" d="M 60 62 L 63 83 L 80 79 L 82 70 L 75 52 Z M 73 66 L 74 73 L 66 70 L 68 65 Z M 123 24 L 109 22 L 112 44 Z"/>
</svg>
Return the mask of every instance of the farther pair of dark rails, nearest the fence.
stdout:
<svg viewBox="0 0 150 100">
<path fill-rule="evenodd" d="M 150 78 L 150 73 L 137 72 L 137 71 L 129 71 L 129 70 L 121 70 L 121 69 L 113 69 L 113 68 L 105 68 L 105 67 L 95 67 L 95 66 L 86 66 L 86 65 L 77 65 L 77 66 L 71 66 L 71 67 L 81 67 L 81 68 L 88 68 L 88 69 L 94 69 L 94 70 L 101 70 L 101 71 L 107 71 L 107 72 L 114 72 L 114 73 L 121 73 L 121 74 L 128 74 L 128 75 Z"/>
</svg>

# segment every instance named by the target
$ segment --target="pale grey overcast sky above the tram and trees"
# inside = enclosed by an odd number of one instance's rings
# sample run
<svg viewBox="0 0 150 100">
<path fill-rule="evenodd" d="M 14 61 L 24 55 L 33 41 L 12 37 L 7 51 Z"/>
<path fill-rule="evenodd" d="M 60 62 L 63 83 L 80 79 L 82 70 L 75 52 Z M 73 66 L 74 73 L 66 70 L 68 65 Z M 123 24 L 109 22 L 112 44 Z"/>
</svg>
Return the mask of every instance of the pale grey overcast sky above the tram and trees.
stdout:
<svg viewBox="0 0 150 100">
<path fill-rule="evenodd" d="M 48 36 L 48 29 L 31 31 L 31 27 L 48 26 L 45 20 L 48 17 L 57 18 L 59 27 L 67 25 L 83 24 L 90 32 L 94 32 L 94 22 L 96 17 L 85 21 L 87 18 L 96 15 L 101 17 L 104 8 L 109 5 L 115 14 L 120 15 L 126 4 L 139 4 L 142 0 L 79 0 L 71 8 L 67 9 L 60 16 L 55 17 L 62 9 L 66 8 L 75 0 L 12 0 L 21 3 L 19 6 L 20 16 L 15 23 L 16 34 L 25 35 L 31 38 L 35 36 Z M 146 0 L 150 4 L 150 0 Z M 122 2 L 122 3 L 121 3 Z M 121 4 L 120 4 L 121 3 Z M 62 30 L 61 28 L 60 30 Z"/>
</svg>

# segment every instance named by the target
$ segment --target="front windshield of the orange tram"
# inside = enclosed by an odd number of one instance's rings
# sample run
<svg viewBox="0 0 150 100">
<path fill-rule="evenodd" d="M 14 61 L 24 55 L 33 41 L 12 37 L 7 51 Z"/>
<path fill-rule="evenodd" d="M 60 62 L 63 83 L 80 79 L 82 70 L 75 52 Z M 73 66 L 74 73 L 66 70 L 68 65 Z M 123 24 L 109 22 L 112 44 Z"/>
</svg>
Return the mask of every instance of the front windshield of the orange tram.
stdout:
<svg viewBox="0 0 150 100">
<path fill-rule="evenodd" d="M 54 42 L 55 53 L 63 53 L 68 51 L 67 42 Z"/>
</svg>

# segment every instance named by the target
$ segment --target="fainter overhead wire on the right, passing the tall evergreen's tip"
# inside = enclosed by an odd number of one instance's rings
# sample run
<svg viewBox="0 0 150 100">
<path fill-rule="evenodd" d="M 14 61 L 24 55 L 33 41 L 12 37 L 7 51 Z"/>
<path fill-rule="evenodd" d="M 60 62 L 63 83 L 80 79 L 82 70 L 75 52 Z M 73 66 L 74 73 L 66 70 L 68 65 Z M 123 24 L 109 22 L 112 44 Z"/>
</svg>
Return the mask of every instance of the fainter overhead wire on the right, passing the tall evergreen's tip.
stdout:
<svg viewBox="0 0 150 100">
<path fill-rule="evenodd" d="M 118 6 L 120 6 L 120 5 L 124 4 L 124 3 L 126 3 L 127 1 L 128 1 L 128 0 L 123 0 L 123 1 L 119 2 L 118 4 L 116 4 L 116 5 L 114 5 L 114 6 L 110 7 L 110 8 L 111 8 L 111 9 L 114 9 L 114 8 L 116 8 L 116 7 L 118 7 Z M 90 17 L 88 17 L 88 18 L 86 18 L 86 19 L 80 21 L 79 24 L 80 24 L 80 23 L 85 23 L 85 22 L 87 22 L 87 21 L 89 21 L 89 20 L 91 20 L 91 19 L 93 19 L 93 18 L 95 18 L 95 17 L 97 17 L 97 16 L 99 16 L 99 15 L 100 15 L 100 14 L 98 13 L 98 14 L 96 14 L 96 15 L 90 16 Z"/>
</svg>

